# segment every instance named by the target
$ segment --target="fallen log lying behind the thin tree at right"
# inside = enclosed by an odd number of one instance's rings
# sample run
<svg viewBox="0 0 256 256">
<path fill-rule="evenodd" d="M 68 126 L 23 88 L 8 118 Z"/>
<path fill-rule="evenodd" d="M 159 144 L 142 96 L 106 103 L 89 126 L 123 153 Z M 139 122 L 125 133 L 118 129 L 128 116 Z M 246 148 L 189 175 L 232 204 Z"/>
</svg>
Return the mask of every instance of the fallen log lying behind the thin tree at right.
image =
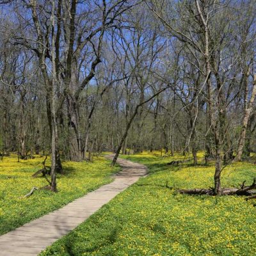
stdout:
<svg viewBox="0 0 256 256">
<path fill-rule="evenodd" d="M 245 200 L 256 198 L 256 179 L 253 179 L 253 183 L 250 186 L 244 186 L 246 180 L 241 184 L 241 188 L 223 188 L 221 195 L 237 195 L 237 196 L 249 196 Z M 179 189 L 179 193 L 186 195 L 214 195 L 214 189 Z"/>
</svg>

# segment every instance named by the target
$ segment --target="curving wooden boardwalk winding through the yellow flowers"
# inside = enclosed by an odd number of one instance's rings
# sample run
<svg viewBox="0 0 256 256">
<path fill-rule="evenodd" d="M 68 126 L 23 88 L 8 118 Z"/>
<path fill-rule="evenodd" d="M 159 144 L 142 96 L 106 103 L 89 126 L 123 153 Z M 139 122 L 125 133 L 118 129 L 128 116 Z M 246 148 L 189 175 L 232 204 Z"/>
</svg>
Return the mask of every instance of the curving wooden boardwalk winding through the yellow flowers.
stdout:
<svg viewBox="0 0 256 256">
<path fill-rule="evenodd" d="M 112 156 L 108 156 L 108 158 L 110 157 Z M 114 175 L 115 180 L 113 182 L 74 200 L 61 209 L 0 236 L 0 255 L 38 255 L 140 177 L 147 175 L 147 168 L 142 164 L 132 163 L 124 159 L 118 159 L 117 163 L 122 166 L 122 171 Z"/>
</svg>

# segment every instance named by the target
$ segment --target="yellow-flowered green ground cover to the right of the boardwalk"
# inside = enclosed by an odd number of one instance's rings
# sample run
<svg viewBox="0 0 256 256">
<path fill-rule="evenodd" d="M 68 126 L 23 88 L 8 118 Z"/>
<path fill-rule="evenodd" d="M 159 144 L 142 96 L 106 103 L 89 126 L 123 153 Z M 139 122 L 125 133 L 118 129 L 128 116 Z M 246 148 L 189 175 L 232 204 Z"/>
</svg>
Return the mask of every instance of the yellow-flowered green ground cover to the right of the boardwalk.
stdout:
<svg viewBox="0 0 256 256">
<path fill-rule="evenodd" d="M 48 255 L 255 255 L 256 209 L 239 196 L 188 196 L 166 188 L 212 186 L 214 166 L 168 166 L 175 157 L 125 158 L 151 173 L 41 253 Z M 223 186 L 252 182 L 255 165 L 230 164 Z"/>
</svg>

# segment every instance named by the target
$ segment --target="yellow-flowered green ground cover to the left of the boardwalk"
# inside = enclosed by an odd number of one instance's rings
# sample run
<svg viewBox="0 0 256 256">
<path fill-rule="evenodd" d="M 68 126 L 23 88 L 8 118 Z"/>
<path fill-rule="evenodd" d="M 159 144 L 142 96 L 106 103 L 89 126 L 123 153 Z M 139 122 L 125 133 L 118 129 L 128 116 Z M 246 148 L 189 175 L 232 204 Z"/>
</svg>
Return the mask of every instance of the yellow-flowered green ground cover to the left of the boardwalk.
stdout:
<svg viewBox="0 0 256 256">
<path fill-rule="evenodd" d="M 0 161 L 0 235 L 24 223 L 54 211 L 72 200 L 83 196 L 102 184 L 111 181 L 111 173 L 120 168 L 111 168 L 103 157 L 93 163 L 64 162 L 64 174 L 58 175 L 58 193 L 38 190 L 28 198 L 20 198 L 29 193 L 33 186 L 47 185 L 44 178 L 31 175 L 42 168 L 44 157 L 20 160 L 14 155 Z M 49 160 L 46 163 L 50 165 Z"/>
</svg>

